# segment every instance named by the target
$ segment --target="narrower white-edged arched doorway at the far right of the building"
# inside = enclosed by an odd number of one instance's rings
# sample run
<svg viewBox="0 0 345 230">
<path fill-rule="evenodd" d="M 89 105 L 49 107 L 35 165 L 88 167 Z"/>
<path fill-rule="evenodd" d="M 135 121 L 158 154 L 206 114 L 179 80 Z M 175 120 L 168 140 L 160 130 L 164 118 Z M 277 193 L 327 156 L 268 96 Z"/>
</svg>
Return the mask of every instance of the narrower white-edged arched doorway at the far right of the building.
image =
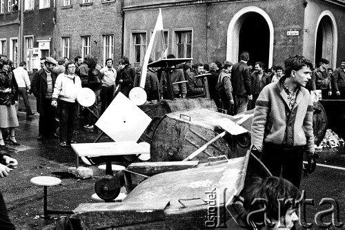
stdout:
<svg viewBox="0 0 345 230">
<path fill-rule="evenodd" d="M 324 11 L 319 17 L 315 36 L 315 64 L 321 58 L 330 61 L 329 66 L 335 68 L 337 52 L 337 26 L 331 12 Z"/>
</svg>

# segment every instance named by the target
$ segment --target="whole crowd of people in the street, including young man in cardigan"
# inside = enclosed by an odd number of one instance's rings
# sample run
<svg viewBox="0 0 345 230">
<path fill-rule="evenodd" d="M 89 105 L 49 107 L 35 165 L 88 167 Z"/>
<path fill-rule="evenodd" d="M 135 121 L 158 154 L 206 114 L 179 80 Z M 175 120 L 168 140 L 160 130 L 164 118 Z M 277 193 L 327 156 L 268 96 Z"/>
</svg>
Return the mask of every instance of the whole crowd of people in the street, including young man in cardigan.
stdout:
<svg viewBox="0 0 345 230">
<path fill-rule="evenodd" d="M 168 55 L 167 58 L 175 59 L 175 56 Z M 321 90 L 324 99 L 345 99 L 345 59 L 334 71 L 328 68 L 327 59 L 321 59 L 319 67 L 314 69 L 310 60 L 299 55 L 286 59 L 285 68 L 273 66 L 265 70 L 261 61 L 255 62 L 254 68 L 251 68 L 248 61 L 249 53 L 243 52 L 236 64 L 215 61 L 209 65 L 198 63 L 193 66 L 170 66 L 172 68 L 168 72 L 149 68 L 144 86 L 148 101 L 168 98 L 170 77 L 173 97 L 209 96 L 219 111 L 229 115 L 255 108 L 251 153 L 278 178 L 260 179 L 253 183 L 255 189 L 250 190 L 250 187 L 246 193 L 244 216 L 261 207 L 261 204 L 255 207 L 250 203 L 250 200 L 259 196 L 267 198 L 268 202 L 277 198 L 299 198 L 304 153 L 308 159 L 308 173 L 315 171 L 317 154 L 314 149 L 310 92 Z M 28 93 L 33 93 L 37 99 L 37 140 L 59 138 L 62 147 L 70 146 L 75 143 L 75 119 L 80 117 L 88 119 L 84 128 L 97 130 L 95 122 L 99 116 L 99 102 L 102 114 L 117 92 L 129 97 L 130 90 L 139 86 L 141 68 L 131 66 L 127 57 L 121 58 L 118 64 L 116 70 L 114 61 L 109 58 L 102 67 L 92 55 L 86 55 L 84 59 L 77 56 L 74 61 L 67 58 L 58 58 L 56 61 L 46 57 L 41 59 L 41 69 L 34 73 L 30 82 L 24 61 L 18 68 L 12 68 L 10 59 L 1 55 L 0 128 L 9 128 L 9 132 L 6 138 L 0 132 L 0 147 L 6 148 L 5 140 L 19 145 L 15 139 L 15 127 L 19 126 L 16 111 L 19 95 L 23 97 L 26 115 L 34 115 L 28 102 Z M 204 75 L 206 73 L 209 74 Z M 85 87 L 95 93 L 95 103 L 90 107 L 92 113 L 86 113 L 77 103 L 77 93 Z M 57 127 L 59 135 L 56 135 Z M 2 159 L 1 178 L 17 167 L 17 161 L 9 155 L 2 155 Z M 282 178 L 279 178 L 281 173 Z M 268 189 L 272 186 L 280 187 L 281 193 L 272 193 Z M 0 197 L 0 209 L 2 204 Z M 277 206 L 270 207 L 272 212 L 268 218 L 276 222 L 282 223 L 283 219 L 286 221 L 287 215 L 293 215 L 288 223 L 289 229 L 298 220 L 295 204 L 286 204 L 284 212 L 278 215 Z M 6 216 L 0 222 L 8 222 Z M 260 218 L 263 218 L 261 214 L 252 215 L 246 219 L 246 224 L 255 227 Z"/>
</svg>

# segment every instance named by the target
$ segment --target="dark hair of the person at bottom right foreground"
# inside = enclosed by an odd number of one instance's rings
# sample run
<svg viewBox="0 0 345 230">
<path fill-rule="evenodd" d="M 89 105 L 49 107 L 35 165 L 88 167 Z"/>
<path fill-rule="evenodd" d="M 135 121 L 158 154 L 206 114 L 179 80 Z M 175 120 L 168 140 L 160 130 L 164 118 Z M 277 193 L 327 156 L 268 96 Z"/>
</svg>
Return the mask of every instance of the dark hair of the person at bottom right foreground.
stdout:
<svg viewBox="0 0 345 230">
<path fill-rule="evenodd" d="M 270 220 L 280 220 L 288 209 L 299 207 L 301 198 L 301 191 L 284 178 L 255 177 L 244 191 L 244 215 L 246 219 L 256 223 L 264 222 L 264 212 Z"/>
</svg>

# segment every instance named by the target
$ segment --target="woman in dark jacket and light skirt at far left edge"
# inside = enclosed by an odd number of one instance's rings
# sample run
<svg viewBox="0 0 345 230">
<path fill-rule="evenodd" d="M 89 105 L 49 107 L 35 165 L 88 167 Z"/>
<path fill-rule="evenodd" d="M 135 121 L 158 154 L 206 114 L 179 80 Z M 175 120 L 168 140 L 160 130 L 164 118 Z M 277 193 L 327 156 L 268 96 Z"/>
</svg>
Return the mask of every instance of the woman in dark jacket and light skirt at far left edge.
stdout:
<svg viewBox="0 0 345 230">
<path fill-rule="evenodd" d="M 10 59 L 0 59 L 0 128 L 10 128 L 8 142 L 19 145 L 15 139 L 14 128 L 19 126 L 15 105 L 18 104 L 18 85 L 10 70 Z M 5 148 L 0 132 L 0 147 Z"/>
</svg>

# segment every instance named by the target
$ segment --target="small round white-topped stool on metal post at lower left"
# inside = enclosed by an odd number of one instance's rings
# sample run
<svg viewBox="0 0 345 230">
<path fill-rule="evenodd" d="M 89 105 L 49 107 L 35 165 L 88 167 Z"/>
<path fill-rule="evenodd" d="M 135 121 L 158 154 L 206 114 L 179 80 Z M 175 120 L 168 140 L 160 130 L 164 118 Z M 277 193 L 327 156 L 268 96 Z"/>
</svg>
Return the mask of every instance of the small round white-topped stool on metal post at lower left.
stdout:
<svg viewBox="0 0 345 230">
<path fill-rule="evenodd" d="M 73 211 L 51 210 L 47 208 L 47 187 L 61 184 L 61 180 L 59 178 L 50 177 L 50 176 L 39 176 L 39 177 L 31 178 L 30 182 L 32 184 L 43 186 L 43 189 L 44 189 L 43 215 L 41 215 L 41 218 L 48 219 L 50 218 L 49 214 L 73 214 Z"/>
</svg>

